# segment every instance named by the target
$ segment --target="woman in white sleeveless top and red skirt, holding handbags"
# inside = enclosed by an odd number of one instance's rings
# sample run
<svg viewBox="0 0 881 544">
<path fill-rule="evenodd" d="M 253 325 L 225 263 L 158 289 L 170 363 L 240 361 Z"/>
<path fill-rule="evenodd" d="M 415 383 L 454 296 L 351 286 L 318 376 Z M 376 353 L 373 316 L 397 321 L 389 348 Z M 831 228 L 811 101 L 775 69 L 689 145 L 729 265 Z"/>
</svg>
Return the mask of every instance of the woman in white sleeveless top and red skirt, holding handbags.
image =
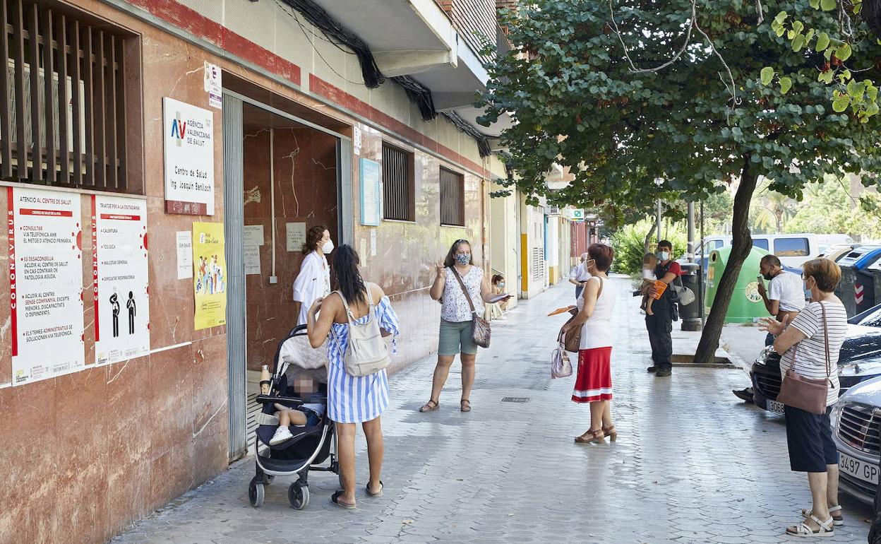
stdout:
<svg viewBox="0 0 881 544">
<path fill-rule="evenodd" d="M 602 243 L 591 244 L 584 268 L 590 272 L 584 291 L 578 299 L 578 314 L 564 327 L 581 327 L 578 349 L 578 378 L 572 401 L 590 405 L 590 428 L 575 438 L 576 443 L 603 442 L 610 436 L 618 438 L 611 421 L 611 315 L 618 290 L 609 281 L 609 268 L 615 250 Z"/>
</svg>

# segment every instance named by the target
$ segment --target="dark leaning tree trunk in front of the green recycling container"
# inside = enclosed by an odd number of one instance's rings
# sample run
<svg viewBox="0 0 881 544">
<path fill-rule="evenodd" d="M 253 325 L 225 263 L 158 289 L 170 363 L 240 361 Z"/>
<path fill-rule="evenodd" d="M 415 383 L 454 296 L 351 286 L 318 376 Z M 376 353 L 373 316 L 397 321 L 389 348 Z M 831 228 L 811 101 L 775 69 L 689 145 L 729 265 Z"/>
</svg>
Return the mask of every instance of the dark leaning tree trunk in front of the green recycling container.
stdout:
<svg viewBox="0 0 881 544">
<path fill-rule="evenodd" d="M 734 196 L 734 211 L 731 217 L 731 255 L 728 265 L 719 279 L 719 287 L 716 288 L 713 307 L 707 316 L 707 324 L 704 332 L 700 335 L 698 349 L 694 353 L 694 362 L 714 362 L 715 350 L 719 347 L 719 337 L 722 336 L 722 325 L 725 324 L 725 314 L 740 276 L 740 269 L 744 265 L 746 257 L 752 250 L 752 238 L 750 236 L 750 203 L 752 193 L 756 190 L 758 175 L 750 172 L 750 156 L 744 156 L 744 167 L 740 173 L 740 186 Z M 757 272 L 758 273 L 758 272 Z"/>
</svg>

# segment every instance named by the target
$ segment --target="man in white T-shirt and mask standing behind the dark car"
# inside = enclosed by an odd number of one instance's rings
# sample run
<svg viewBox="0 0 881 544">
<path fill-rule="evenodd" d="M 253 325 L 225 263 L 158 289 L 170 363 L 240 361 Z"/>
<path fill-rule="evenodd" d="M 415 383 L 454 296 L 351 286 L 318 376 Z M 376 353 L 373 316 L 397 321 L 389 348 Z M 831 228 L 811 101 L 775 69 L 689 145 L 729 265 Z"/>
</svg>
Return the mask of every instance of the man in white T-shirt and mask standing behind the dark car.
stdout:
<svg viewBox="0 0 881 544">
<path fill-rule="evenodd" d="M 797 274 L 783 270 L 780 259 L 774 255 L 762 257 L 762 260 L 759 261 L 759 272 L 761 272 L 762 278 L 768 281 L 767 290 L 765 283 L 759 282 L 759 294 L 762 296 L 762 302 L 765 302 L 765 309 L 778 322 L 782 323 L 783 319 L 788 316 L 789 323 L 792 323 L 798 312 L 804 309 L 802 278 Z M 774 346 L 774 335 L 770 332 L 765 337 L 765 345 Z M 738 399 L 752 402 L 751 387 L 732 392 Z"/>
</svg>

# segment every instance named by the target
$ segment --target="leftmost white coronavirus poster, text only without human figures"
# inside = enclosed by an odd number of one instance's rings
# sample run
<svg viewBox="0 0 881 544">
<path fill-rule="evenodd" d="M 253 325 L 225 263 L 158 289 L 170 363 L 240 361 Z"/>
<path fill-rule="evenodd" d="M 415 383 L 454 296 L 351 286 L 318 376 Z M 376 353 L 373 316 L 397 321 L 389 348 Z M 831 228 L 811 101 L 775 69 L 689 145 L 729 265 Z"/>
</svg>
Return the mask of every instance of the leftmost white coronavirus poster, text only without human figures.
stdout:
<svg viewBox="0 0 881 544">
<path fill-rule="evenodd" d="M 79 195 L 7 189 L 12 384 L 85 367 Z"/>
</svg>

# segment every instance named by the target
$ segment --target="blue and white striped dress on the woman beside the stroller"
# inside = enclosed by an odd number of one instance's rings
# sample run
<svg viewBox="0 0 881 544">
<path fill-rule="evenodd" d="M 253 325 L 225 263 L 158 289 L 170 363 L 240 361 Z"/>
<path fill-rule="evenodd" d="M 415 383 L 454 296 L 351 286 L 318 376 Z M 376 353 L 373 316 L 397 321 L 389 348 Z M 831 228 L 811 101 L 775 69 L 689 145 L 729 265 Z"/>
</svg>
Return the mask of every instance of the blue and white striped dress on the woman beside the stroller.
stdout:
<svg viewBox="0 0 881 544">
<path fill-rule="evenodd" d="M 374 315 L 380 320 L 380 327 L 392 333 L 395 353 L 398 321 L 388 296 L 374 307 Z M 366 320 L 364 316 L 355 321 L 364 324 Z M 328 337 L 328 416 L 337 423 L 371 421 L 389 406 L 389 378 L 385 369 L 367 376 L 346 373 L 343 358 L 348 346 L 349 325 L 333 324 L 333 334 Z"/>
</svg>

